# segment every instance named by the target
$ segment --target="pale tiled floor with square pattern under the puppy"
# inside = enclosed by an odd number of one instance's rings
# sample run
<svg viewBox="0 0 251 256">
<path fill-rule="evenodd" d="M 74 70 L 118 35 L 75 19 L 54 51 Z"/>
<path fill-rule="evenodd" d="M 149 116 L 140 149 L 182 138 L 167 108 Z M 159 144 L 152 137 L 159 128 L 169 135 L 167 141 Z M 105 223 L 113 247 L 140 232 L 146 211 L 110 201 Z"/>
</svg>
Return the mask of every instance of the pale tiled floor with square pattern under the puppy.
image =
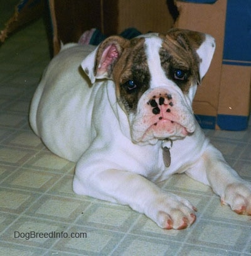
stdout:
<svg viewBox="0 0 251 256">
<path fill-rule="evenodd" d="M 208 187 L 184 175 L 161 184 L 198 208 L 196 223 L 182 231 L 161 230 L 126 206 L 75 195 L 74 164 L 46 150 L 28 125 L 29 101 L 49 60 L 41 20 L 0 48 L 0 255 L 251 255 L 250 216 L 222 207 Z M 206 133 L 250 180 L 251 125 Z M 27 235 L 53 231 L 83 237 Z"/>
</svg>

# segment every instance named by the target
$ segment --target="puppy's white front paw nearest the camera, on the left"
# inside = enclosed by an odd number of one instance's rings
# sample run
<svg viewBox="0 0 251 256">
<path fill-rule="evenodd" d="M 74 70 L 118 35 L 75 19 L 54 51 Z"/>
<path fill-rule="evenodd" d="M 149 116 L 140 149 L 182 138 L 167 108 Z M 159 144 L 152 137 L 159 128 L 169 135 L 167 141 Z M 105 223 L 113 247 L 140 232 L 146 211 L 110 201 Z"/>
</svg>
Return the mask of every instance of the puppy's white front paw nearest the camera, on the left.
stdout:
<svg viewBox="0 0 251 256">
<path fill-rule="evenodd" d="M 195 211 L 196 208 L 189 201 L 173 194 L 164 194 L 149 206 L 146 215 L 161 228 L 182 230 L 195 222 Z"/>
</svg>

